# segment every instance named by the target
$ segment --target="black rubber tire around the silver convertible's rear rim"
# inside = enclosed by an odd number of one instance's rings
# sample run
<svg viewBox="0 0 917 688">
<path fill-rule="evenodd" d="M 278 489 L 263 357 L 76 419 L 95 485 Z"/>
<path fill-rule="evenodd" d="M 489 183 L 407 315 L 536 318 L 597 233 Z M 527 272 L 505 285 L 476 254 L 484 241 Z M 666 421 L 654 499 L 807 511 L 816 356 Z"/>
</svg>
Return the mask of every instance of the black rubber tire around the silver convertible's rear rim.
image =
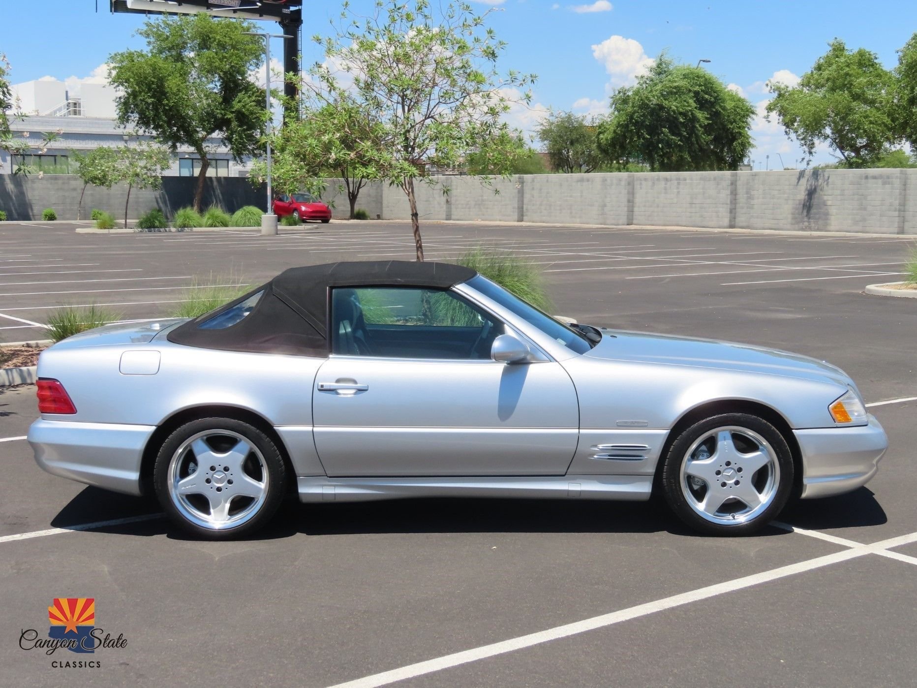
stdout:
<svg viewBox="0 0 917 688">
<path fill-rule="evenodd" d="M 245 461 L 251 461 L 252 459 L 256 461 L 256 465 L 260 472 L 260 480 L 266 484 L 266 488 L 260 505 L 251 509 L 252 513 L 250 516 L 247 516 L 244 522 L 231 527 L 205 527 L 192 520 L 193 512 L 191 512 L 192 516 L 183 514 L 182 508 L 173 501 L 170 494 L 170 467 L 172 458 L 187 440 L 206 431 L 216 431 L 213 435 L 218 436 L 218 431 L 221 430 L 244 438 L 249 443 L 250 447 L 257 449 L 257 452 L 252 451 L 249 453 Z M 207 438 L 209 437 L 210 436 L 207 436 Z M 258 452 L 260 452 L 260 457 L 257 455 Z M 182 451 L 182 456 L 187 457 L 188 454 Z M 176 461 L 181 462 L 182 458 L 179 457 Z M 194 461 L 194 459 L 184 459 L 184 461 Z M 203 464 L 198 466 L 198 468 L 200 470 L 205 470 Z M 209 483 L 209 480 L 207 482 Z M 229 483 L 232 484 L 232 481 L 230 480 Z M 178 427 L 162 443 L 153 468 L 153 484 L 156 488 L 156 496 L 159 498 L 160 505 L 166 515 L 176 524 L 188 532 L 193 533 L 193 535 L 198 538 L 211 540 L 242 538 L 265 526 L 277 512 L 277 508 L 283 501 L 286 493 L 286 483 L 286 466 L 283 462 L 280 450 L 271 438 L 261 432 L 257 427 L 250 426 L 248 423 L 233 418 L 200 418 L 185 423 L 182 427 Z M 228 491 L 229 488 L 226 487 L 226 490 Z M 238 502 L 235 501 L 235 497 L 230 498 L 230 501 L 232 501 L 233 504 L 238 504 Z M 250 501 L 243 501 L 243 504 L 257 505 L 258 502 L 259 500 L 250 499 Z"/>
</svg>

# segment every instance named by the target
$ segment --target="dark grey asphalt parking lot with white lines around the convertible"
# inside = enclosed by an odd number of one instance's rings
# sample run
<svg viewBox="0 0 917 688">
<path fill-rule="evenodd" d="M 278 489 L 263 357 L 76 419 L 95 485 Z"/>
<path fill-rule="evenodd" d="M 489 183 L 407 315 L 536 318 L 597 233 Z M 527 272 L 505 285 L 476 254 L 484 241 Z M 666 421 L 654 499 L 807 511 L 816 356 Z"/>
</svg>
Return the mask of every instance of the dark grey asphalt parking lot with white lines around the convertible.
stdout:
<svg viewBox="0 0 917 688">
<path fill-rule="evenodd" d="M 652 504 L 418 500 L 291 505 L 263 537 L 197 542 L 142 518 L 153 503 L 41 472 L 21 439 L 34 388 L 0 390 L 0 683 L 917 682 L 917 310 L 861 293 L 900 279 L 912 239 L 484 223 L 424 232 L 428 260 L 483 244 L 543 264 L 556 312 L 583 322 L 841 366 L 889 434 L 878 476 L 795 505 L 754 538 L 698 537 Z M 409 228 L 393 222 L 276 238 L 0 226 L 0 340 L 41 338 L 61 304 L 155 318 L 194 277 L 258 283 L 293 265 L 412 256 Z M 94 597 L 96 626 L 127 647 L 74 669 L 51 662 L 86 656 L 20 649 L 22 629 L 44 635 L 60 596 Z"/>
</svg>

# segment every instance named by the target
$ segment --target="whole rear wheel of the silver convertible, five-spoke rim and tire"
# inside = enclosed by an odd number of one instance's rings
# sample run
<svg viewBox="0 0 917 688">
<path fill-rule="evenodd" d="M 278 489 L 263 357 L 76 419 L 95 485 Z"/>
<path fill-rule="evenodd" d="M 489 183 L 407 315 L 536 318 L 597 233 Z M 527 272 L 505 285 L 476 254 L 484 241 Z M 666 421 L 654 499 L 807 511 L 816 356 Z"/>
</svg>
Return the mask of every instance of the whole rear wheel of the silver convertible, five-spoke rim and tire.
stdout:
<svg viewBox="0 0 917 688">
<path fill-rule="evenodd" d="M 176 429 L 162 444 L 153 471 L 166 514 L 208 539 L 258 530 L 277 511 L 286 483 L 271 438 L 232 418 L 202 418 Z"/>
</svg>

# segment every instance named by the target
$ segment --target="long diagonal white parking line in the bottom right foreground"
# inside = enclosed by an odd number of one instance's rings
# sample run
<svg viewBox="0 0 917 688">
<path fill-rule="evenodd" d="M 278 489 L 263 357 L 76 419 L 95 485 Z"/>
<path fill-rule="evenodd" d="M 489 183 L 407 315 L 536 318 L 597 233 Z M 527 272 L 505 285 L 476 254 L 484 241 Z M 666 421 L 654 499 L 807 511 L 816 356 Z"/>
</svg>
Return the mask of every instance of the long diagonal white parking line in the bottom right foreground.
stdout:
<svg viewBox="0 0 917 688">
<path fill-rule="evenodd" d="M 374 686 L 404 681 L 405 679 L 423 676 L 435 671 L 443 671 L 444 669 L 450 669 L 472 661 L 484 660 L 489 657 L 514 652 L 519 649 L 531 648 L 536 645 L 541 645 L 542 643 L 550 642 L 551 640 L 569 638 L 570 636 L 580 635 L 581 633 L 597 628 L 610 627 L 624 621 L 639 618 L 640 616 L 656 614 L 657 612 L 662 612 L 678 606 L 689 605 L 693 602 L 700 602 L 721 594 L 734 593 L 737 590 L 743 590 L 762 583 L 770 583 L 771 581 L 777 581 L 781 578 L 804 573 L 806 571 L 814 571 L 815 569 L 821 569 L 841 561 L 864 557 L 868 554 L 878 554 L 891 547 L 898 547 L 914 541 L 917 541 L 917 533 L 911 533 L 901 536 L 900 538 L 883 540 L 874 545 L 856 545 L 856 547 L 843 549 L 839 552 L 834 552 L 834 554 L 827 554 L 823 557 L 800 561 L 769 571 L 753 573 L 752 575 L 736 578 L 735 580 L 726 581 L 725 583 L 708 585 L 688 593 L 671 595 L 661 600 L 628 607 L 610 614 L 592 616 L 582 621 L 548 628 L 547 630 L 520 636 L 519 638 L 510 638 L 490 645 L 484 645 L 480 648 L 466 649 L 461 652 L 444 655 L 443 657 L 437 657 L 433 660 L 419 661 L 398 669 L 392 669 L 391 671 L 382 671 L 381 673 L 372 674 L 371 676 L 365 676 L 356 681 L 337 683 L 333 688 L 373 688 Z M 893 552 L 893 554 L 897 554 L 897 552 Z M 897 559 L 897 557 L 892 558 Z"/>
</svg>

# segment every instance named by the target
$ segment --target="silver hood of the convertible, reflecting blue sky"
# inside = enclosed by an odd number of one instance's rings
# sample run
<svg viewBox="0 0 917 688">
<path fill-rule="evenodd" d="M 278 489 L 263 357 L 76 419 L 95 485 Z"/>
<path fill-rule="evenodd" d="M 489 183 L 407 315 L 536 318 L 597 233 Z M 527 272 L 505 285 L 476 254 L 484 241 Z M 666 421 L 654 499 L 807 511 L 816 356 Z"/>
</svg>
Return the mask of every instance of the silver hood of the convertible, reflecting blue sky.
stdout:
<svg viewBox="0 0 917 688">
<path fill-rule="evenodd" d="M 586 356 L 609 361 L 761 372 L 807 380 L 829 380 L 844 385 L 853 384 L 840 368 L 789 351 L 731 341 L 674 337 L 648 332 L 602 330 L 602 335 L 602 341 L 586 353 Z"/>
</svg>

